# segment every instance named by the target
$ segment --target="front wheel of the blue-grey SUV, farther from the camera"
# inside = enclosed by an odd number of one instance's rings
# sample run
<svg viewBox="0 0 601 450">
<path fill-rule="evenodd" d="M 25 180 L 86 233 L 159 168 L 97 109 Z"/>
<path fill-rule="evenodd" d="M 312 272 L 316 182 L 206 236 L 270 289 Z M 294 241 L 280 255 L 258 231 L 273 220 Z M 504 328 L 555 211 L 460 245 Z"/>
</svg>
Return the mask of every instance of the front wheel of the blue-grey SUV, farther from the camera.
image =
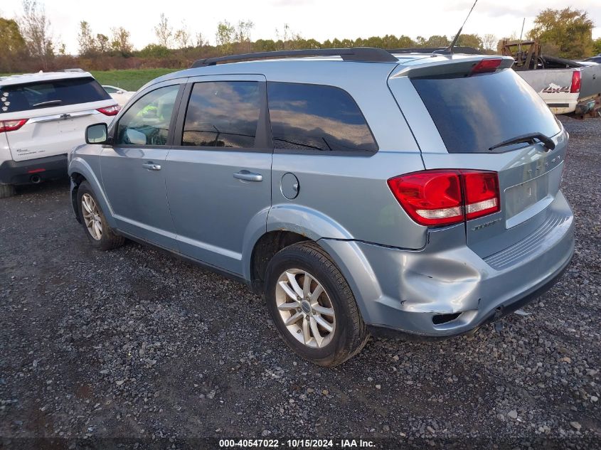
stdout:
<svg viewBox="0 0 601 450">
<path fill-rule="evenodd" d="M 78 188 L 78 212 L 92 247 L 98 250 L 113 250 L 124 244 L 125 238 L 117 235 L 108 225 L 100 203 L 87 181 L 83 181 Z"/>
</svg>

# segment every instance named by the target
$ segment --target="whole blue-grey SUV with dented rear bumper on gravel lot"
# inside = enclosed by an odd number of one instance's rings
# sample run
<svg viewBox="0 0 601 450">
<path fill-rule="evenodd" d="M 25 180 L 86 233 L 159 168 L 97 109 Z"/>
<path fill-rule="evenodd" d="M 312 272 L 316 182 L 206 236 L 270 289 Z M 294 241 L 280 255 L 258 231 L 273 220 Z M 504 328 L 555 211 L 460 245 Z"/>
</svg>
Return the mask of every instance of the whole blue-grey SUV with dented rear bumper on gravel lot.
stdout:
<svg viewBox="0 0 601 450">
<path fill-rule="evenodd" d="M 319 365 L 370 331 L 474 331 L 563 273 L 568 134 L 511 58 L 267 55 L 199 60 L 88 127 L 69 173 L 93 247 L 128 237 L 245 282 Z"/>
</svg>

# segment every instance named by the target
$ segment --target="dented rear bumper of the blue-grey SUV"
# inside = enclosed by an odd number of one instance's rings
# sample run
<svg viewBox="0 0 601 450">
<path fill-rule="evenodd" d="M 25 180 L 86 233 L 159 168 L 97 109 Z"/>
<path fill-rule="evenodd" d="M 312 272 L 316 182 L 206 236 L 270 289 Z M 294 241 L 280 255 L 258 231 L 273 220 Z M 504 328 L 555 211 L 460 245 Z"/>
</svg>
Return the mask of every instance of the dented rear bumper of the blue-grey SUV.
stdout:
<svg viewBox="0 0 601 450">
<path fill-rule="evenodd" d="M 508 314 L 555 284 L 574 252 L 573 215 L 561 193 L 550 208 L 562 220 L 546 235 L 537 235 L 542 245 L 526 239 L 518 242 L 518 250 L 510 247 L 502 258 L 494 258 L 504 253 L 499 252 L 486 261 L 465 245 L 463 225 L 430 232 L 419 251 L 352 241 L 320 243 L 349 280 L 368 325 L 444 338 Z M 519 258 L 511 259 L 516 254 Z"/>
</svg>

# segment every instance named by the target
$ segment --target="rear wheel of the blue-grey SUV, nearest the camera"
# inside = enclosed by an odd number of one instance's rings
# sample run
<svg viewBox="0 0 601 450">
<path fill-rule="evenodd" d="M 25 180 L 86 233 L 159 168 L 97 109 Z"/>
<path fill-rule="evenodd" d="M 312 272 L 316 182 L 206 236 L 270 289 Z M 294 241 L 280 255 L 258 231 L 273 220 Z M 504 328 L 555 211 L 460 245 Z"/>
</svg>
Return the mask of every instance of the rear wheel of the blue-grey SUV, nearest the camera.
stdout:
<svg viewBox="0 0 601 450">
<path fill-rule="evenodd" d="M 315 242 L 277 252 L 267 265 L 265 297 L 284 341 L 312 363 L 339 365 L 368 341 L 348 282 Z"/>
</svg>

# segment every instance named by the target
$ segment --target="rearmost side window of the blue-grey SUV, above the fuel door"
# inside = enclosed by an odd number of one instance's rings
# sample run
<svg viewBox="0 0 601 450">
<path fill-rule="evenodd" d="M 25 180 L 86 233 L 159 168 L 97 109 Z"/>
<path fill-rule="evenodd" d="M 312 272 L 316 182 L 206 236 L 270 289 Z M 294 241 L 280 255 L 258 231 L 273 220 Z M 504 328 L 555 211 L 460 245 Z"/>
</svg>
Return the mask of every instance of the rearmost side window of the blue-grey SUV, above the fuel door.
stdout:
<svg viewBox="0 0 601 450">
<path fill-rule="evenodd" d="M 377 151 L 361 109 L 334 86 L 267 82 L 276 149 Z"/>
</svg>

